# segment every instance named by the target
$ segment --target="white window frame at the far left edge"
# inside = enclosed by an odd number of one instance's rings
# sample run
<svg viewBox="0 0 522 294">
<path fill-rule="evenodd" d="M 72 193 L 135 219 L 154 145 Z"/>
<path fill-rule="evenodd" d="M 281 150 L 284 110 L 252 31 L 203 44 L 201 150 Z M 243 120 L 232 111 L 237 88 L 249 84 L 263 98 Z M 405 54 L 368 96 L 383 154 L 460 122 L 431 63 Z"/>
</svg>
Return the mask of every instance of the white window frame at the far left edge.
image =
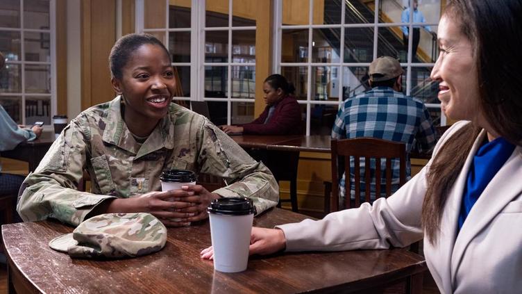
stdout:
<svg viewBox="0 0 522 294">
<path fill-rule="evenodd" d="M 20 0 L 20 27 L 19 28 L 1 28 L 2 31 L 15 31 L 20 33 L 20 60 L 7 60 L 8 65 L 19 65 L 21 76 L 20 89 L 21 92 L 0 92 L 0 97 L 19 97 L 22 99 L 22 124 L 26 124 L 26 98 L 27 97 L 49 97 L 51 100 L 51 124 L 44 126 L 45 131 L 52 130 L 52 117 L 57 112 L 56 101 L 56 0 L 49 0 L 49 29 L 24 28 L 24 0 Z M 26 61 L 25 60 L 25 33 L 49 33 L 49 61 Z M 51 72 L 50 87 L 51 92 L 47 93 L 26 93 L 26 65 L 49 65 Z"/>
</svg>

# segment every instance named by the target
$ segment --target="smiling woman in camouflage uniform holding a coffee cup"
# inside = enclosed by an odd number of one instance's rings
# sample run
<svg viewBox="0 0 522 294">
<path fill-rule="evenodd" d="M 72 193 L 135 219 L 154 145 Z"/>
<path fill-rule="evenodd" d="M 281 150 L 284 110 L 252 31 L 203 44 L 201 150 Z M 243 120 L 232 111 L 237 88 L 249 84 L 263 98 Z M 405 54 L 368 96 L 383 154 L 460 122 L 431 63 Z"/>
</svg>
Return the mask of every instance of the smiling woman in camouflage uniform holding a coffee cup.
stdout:
<svg viewBox="0 0 522 294">
<path fill-rule="evenodd" d="M 162 42 L 126 35 L 109 63 L 118 96 L 83 111 L 53 143 L 24 181 L 22 219 L 76 226 L 101 213 L 147 212 L 180 227 L 208 218 L 208 204 L 219 197 L 250 197 L 258 213 L 276 206 L 278 184 L 267 167 L 205 117 L 171 103 L 176 79 Z M 171 169 L 224 177 L 230 185 L 212 193 L 201 185 L 160 192 L 160 174 Z M 92 193 L 76 190 L 83 170 Z"/>
</svg>

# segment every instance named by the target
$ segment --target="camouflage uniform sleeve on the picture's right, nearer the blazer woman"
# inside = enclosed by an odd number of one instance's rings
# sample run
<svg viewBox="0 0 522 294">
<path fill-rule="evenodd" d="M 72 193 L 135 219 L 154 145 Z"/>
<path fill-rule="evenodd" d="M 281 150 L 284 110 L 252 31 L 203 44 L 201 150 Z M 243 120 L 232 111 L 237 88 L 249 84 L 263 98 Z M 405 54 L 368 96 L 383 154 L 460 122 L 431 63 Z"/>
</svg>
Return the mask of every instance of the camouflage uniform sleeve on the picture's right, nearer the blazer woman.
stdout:
<svg viewBox="0 0 522 294">
<path fill-rule="evenodd" d="M 215 190 L 222 197 L 249 197 L 257 213 L 279 200 L 279 186 L 270 170 L 256 162 L 226 133 L 207 120 L 199 131 L 200 171 L 226 179 L 228 186 Z"/>
</svg>

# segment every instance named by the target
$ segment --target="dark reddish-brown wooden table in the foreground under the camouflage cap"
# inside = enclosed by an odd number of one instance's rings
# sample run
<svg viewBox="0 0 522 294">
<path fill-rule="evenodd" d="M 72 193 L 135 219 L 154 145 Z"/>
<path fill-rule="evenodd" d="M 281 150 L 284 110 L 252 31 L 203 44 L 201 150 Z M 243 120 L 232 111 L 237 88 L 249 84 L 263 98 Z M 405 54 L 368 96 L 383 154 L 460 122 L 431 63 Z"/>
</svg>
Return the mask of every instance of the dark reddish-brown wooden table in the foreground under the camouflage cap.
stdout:
<svg viewBox="0 0 522 294">
<path fill-rule="evenodd" d="M 303 220 L 273 209 L 255 218 L 258 227 Z M 208 222 L 168 230 L 160 252 L 135 259 L 71 259 L 49 248 L 51 239 L 72 231 L 58 222 L 2 227 L 10 291 L 17 293 L 302 293 L 362 292 L 383 286 L 421 290 L 426 263 L 412 252 L 360 250 L 254 256 L 244 272 L 214 271 L 199 252 L 210 245 Z M 420 283 L 420 284 L 419 284 Z"/>
</svg>

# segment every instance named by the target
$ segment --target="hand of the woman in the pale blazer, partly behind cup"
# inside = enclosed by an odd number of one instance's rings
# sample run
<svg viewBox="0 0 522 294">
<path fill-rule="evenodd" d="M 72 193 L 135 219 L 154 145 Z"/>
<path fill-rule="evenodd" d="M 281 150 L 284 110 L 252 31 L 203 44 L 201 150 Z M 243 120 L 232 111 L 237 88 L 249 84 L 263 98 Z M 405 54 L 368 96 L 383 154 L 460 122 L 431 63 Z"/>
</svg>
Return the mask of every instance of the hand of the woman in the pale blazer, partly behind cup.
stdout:
<svg viewBox="0 0 522 294">
<path fill-rule="evenodd" d="M 253 227 L 250 236 L 249 255 L 267 255 L 285 250 L 286 242 L 283 230 Z M 202 259 L 214 259 L 212 246 L 201 250 L 200 254 Z"/>
</svg>

